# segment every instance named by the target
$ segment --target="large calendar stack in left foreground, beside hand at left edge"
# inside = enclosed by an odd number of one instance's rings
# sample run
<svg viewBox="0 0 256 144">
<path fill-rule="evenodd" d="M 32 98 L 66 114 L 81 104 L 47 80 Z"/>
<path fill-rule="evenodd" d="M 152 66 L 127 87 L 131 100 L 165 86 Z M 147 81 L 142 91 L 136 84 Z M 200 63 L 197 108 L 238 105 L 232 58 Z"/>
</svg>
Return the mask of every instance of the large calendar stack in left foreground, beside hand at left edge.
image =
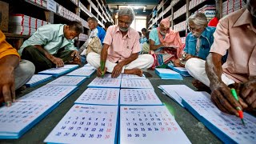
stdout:
<svg viewBox="0 0 256 144">
<path fill-rule="evenodd" d="M 46 85 L 0 108 L 0 139 L 20 138 L 77 90 L 77 86 Z"/>
</svg>

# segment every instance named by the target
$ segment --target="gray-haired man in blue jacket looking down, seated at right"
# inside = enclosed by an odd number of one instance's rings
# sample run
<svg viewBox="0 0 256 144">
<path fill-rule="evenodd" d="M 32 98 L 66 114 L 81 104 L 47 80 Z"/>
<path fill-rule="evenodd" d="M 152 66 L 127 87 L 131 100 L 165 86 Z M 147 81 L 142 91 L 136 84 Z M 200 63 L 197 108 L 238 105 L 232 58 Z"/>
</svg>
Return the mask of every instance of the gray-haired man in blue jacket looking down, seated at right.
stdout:
<svg viewBox="0 0 256 144">
<path fill-rule="evenodd" d="M 176 59 L 174 66 L 184 67 L 185 62 L 190 58 L 206 60 L 210 46 L 214 42 L 215 27 L 207 26 L 208 22 L 205 14 L 193 14 L 186 22 L 189 25 L 190 33 L 186 37 L 186 46 L 182 58 Z M 196 69 L 194 66 L 190 68 Z"/>
</svg>

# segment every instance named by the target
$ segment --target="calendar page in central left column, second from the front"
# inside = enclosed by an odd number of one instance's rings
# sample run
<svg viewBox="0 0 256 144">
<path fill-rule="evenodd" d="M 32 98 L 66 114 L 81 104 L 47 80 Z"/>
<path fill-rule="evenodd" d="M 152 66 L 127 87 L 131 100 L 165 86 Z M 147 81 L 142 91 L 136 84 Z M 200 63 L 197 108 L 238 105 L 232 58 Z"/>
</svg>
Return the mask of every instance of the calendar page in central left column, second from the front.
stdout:
<svg viewBox="0 0 256 144">
<path fill-rule="evenodd" d="M 77 104 L 118 105 L 120 89 L 87 88 L 74 102 Z"/>
</svg>

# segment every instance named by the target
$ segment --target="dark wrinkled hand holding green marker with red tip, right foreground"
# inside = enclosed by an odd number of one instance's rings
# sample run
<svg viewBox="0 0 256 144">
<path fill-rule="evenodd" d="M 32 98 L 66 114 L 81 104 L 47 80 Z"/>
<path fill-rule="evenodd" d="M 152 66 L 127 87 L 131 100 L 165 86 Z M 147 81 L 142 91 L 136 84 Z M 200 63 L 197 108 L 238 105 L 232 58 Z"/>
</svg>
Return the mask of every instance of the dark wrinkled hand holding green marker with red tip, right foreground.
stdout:
<svg viewBox="0 0 256 144">
<path fill-rule="evenodd" d="M 216 106 L 218 106 L 219 110 L 222 110 L 222 112 L 239 116 L 236 107 L 240 107 L 242 109 L 247 107 L 247 105 L 245 104 L 245 102 L 242 101 L 241 98 L 239 99 L 239 102 L 235 100 L 230 92 L 230 88 L 227 87 L 226 84 L 223 82 L 210 85 L 210 89 L 212 91 L 211 100 Z"/>
</svg>

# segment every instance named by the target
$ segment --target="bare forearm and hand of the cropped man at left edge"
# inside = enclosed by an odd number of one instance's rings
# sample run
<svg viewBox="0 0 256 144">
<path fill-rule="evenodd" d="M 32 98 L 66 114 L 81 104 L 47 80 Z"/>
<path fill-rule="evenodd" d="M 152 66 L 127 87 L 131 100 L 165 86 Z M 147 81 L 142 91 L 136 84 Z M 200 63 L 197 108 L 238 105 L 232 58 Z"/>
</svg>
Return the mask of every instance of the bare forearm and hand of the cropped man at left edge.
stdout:
<svg viewBox="0 0 256 144">
<path fill-rule="evenodd" d="M 0 102 L 6 102 L 6 106 L 11 106 L 11 102 L 15 102 L 13 66 L 0 66 Z"/>
</svg>

